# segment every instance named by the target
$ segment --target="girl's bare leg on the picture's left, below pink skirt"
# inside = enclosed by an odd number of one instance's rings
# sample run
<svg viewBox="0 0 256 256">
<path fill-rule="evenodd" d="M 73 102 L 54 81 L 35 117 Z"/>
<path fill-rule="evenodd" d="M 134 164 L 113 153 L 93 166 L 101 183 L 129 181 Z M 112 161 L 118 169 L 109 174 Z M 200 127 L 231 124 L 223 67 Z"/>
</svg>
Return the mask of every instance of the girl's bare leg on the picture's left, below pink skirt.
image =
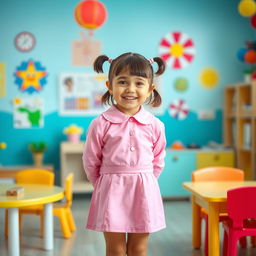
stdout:
<svg viewBox="0 0 256 256">
<path fill-rule="evenodd" d="M 106 241 L 106 256 L 126 255 L 126 234 L 116 232 L 104 232 Z"/>
</svg>

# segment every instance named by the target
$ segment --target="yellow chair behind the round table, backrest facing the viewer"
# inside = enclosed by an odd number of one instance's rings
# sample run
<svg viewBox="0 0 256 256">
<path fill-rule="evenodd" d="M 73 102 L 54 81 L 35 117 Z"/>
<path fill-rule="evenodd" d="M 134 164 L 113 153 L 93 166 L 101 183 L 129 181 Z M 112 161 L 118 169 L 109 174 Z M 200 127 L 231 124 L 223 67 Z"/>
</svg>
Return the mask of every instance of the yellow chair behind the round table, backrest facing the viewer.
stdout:
<svg viewBox="0 0 256 256">
<path fill-rule="evenodd" d="M 40 184 L 53 186 L 54 184 L 54 173 L 44 169 L 29 169 L 22 170 L 16 174 L 17 184 Z M 42 205 L 26 206 L 19 208 L 19 223 L 22 226 L 22 215 L 23 214 L 37 214 L 39 215 L 43 209 Z M 8 210 L 6 210 L 6 221 L 5 221 L 5 236 L 8 237 Z M 43 223 L 43 215 L 40 214 L 41 225 Z M 42 234 L 42 233 L 41 233 Z"/>
</svg>

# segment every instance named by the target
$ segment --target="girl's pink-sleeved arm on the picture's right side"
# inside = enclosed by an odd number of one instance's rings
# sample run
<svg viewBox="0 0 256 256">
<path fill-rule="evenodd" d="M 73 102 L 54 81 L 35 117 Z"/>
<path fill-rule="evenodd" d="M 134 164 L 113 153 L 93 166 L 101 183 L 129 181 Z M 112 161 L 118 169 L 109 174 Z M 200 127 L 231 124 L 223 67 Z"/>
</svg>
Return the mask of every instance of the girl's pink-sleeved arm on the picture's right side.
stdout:
<svg viewBox="0 0 256 256">
<path fill-rule="evenodd" d="M 157 122 L 155 129 L 156 141 L 153 147 L 154 160 L 153 160 L 153 168 L 154 175 L 156 178 L 160 176 L 164 168 L 164 158 L 165 158 L 165 147 L 166 147 L 166 138 L 165 138 L 165 129 L 164 124 L 162 122 Z"/>
</svg>

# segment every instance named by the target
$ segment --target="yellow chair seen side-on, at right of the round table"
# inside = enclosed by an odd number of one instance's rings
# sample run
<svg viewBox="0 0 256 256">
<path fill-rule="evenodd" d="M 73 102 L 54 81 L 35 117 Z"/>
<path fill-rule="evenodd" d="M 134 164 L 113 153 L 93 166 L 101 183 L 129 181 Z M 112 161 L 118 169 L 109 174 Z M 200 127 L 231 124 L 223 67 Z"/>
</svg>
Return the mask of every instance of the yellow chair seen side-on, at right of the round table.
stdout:
<svg viewBox="0 0 256 256">
<path fill-rule="evenodd" d="M 75 221 L 71 212 L 72 205 L 72 184 L 73 184 L 73 173 L 69 173 L 65 179 L 65 203 L 53 204 L 53 215 L 59 218 L 61 231 L 64 238 L 70 238 L 71 232 L 76 230 Z M 43 209 L 40 212 L 43 215 Z M 41 223 L 43 224 L 43 223 Z M 43 225 L 41 225 L 41 234 L 43 233 Z"/>
</svg>

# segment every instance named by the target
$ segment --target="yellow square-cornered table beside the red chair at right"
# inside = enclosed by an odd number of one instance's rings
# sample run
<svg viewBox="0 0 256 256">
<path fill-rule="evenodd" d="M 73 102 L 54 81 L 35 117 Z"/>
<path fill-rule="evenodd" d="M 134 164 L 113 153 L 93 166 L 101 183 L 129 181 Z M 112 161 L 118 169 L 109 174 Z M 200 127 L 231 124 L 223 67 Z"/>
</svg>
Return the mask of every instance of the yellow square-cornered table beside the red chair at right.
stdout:
<svg viewBox="0 0 256 256">
<path fill-rule="evenodd" d="M 183 187 L 192 193 L 192 245 L 201 247 L 201 207 L 209 214 L 209 256 L 220 255 L 219 215 L 227 213 L 227 191 L 243 186 L 256 186 L 256 181 L 243 182 L 185 182 Z"/>
</svg>

